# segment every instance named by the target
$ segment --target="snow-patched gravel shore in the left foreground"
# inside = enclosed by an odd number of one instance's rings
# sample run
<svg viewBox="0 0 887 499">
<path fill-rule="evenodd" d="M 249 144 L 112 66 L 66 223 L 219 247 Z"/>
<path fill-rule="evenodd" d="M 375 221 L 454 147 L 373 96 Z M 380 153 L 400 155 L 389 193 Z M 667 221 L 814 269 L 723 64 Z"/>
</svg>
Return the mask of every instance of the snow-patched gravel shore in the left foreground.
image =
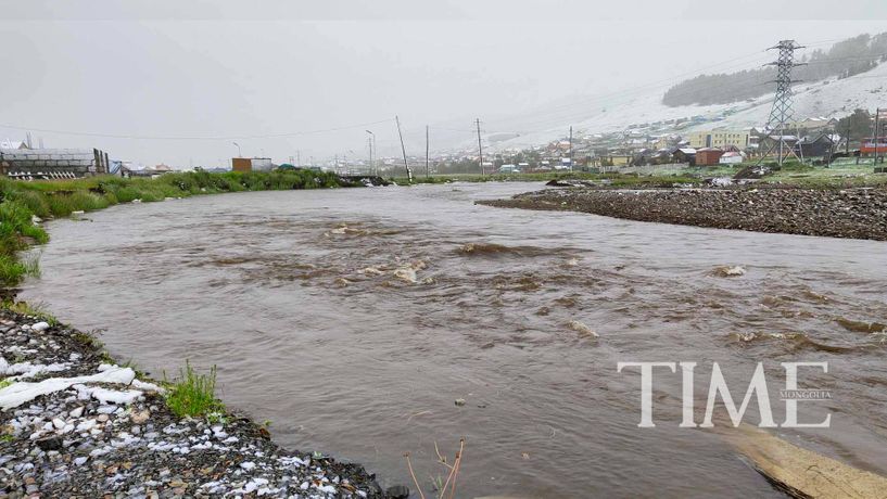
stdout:
<svg viewBox="0 0 887 499">
<path fill-rule="evenodd" d="M 0 311 L 0 497 L 406 497 L 243 415 L 180 419 L 163 392 L 87 334 Z"/>
</svg>

